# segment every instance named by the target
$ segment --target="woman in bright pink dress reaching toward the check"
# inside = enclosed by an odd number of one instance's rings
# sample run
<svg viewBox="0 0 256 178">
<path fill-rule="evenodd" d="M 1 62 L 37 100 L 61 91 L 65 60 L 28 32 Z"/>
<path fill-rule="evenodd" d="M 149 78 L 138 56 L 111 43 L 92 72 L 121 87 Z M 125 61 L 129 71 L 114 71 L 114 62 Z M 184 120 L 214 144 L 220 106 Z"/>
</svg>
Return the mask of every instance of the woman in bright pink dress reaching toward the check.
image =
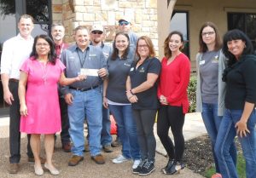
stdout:
<svg viewBox="0 0 256 178">
<path fill-rule="evenodd" d="M 39 158 L 41 134 L 44 134 L 46 152 L 44 167 L 52 175 L 60 174 L 52 164 L 54 134 L 61 130 L 57 84 L 68 85 L 85 78 L 65 78 L 64 69 L 61 60 L 56 58 L 53 41 L 46 35 L 35 38 L 31 57 L 20 67 L 20 132 L 31 134 L 36 175 L 44 174 Z"/>
</svg>

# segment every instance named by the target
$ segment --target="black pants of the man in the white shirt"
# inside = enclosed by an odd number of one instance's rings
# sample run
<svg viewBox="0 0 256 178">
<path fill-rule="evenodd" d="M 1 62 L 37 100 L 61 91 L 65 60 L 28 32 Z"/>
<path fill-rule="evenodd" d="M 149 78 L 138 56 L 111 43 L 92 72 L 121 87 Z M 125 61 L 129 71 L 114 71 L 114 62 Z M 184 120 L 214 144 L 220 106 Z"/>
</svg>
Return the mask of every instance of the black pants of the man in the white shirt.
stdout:
<svg viewBox="0 0 256 178">
<path fill-rule="evenodd" d="M 18 96 L 19 83 L 9 81 L 9 89 L 15 100 L 12 100 L 12 105 L 9 106 L 9 162 L 20 162 L 20 100 Z M 27 135 L 27 156 L 33 158 L 32 149 L 30 146 L 30 135 Z"/>
</svg>

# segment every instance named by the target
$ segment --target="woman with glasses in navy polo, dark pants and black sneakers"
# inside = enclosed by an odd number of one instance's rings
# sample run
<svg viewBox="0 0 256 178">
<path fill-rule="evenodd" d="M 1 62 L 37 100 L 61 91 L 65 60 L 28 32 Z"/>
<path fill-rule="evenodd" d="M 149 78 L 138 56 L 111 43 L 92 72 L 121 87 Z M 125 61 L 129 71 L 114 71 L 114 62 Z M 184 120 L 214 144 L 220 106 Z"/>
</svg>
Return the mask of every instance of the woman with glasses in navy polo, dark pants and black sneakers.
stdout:
<svg viewBox="0 0 256 178">
<path fill-rule="evenodd" d="M 156 80 L 160 74 L 160 60 L 154 57 L 154 46 L 149 37 L 139 37 L 136 55 L 126 82 L 127 98 L 137 123 L 138 143 L 142 161 L 133 169 L 134 174 L 149 175 L 154 171 L 155 138 L 153 132 L 155 114 L 159 106 Z"/>
</svg>

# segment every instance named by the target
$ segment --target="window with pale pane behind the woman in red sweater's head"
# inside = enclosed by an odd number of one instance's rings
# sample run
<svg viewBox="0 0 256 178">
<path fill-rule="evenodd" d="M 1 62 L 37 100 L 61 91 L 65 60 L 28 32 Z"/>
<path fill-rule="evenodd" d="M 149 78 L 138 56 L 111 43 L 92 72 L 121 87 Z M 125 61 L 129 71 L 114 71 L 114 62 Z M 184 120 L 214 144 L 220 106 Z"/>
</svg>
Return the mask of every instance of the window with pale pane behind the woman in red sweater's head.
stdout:
<svg viewBox="0 0 256 178">
<path fill-rule="evenodd" d="M 173 11 L 170 23 L 170 32 L 178 31 L 183 33 L 184 49 L 183 53 L 188 57 L 189 53 L 189 13 L 182 11 Z M 190 59 L 190 57 L 189 57 Z"/>
</svg>

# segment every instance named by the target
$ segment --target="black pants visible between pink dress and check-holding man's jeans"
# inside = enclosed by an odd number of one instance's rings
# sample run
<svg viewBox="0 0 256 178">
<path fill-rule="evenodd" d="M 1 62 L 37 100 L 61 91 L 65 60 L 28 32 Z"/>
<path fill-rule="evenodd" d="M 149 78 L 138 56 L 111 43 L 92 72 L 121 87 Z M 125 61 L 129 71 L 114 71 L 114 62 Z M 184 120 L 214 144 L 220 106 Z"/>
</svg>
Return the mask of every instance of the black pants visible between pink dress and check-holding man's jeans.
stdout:
<svg viewBox="0 0 256 178">
<path fill-rule="evenodd" d="M 59 97 L 60 109 L 61 109 L 61 143 L 62 145 L 70 142 L 69 119 L 67 114 L 67 103 L 64 98 Z"/>
</svg>

